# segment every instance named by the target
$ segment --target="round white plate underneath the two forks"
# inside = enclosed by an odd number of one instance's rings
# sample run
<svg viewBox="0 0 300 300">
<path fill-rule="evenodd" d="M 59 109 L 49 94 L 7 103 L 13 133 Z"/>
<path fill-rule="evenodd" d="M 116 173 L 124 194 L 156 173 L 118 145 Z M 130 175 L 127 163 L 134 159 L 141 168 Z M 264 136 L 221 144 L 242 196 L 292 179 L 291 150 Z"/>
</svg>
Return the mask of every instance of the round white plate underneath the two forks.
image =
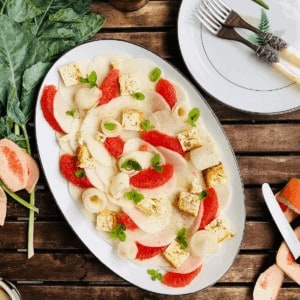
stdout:
<svg viewBox="0 0 300 300">
<path fill-rule="evenodd" d="M 223 0 L 245 20 L 258 25 L 262 8 L 251 0 Z M 300 48 L 300 2 L 267 0 L 270 30 Z M 248 112 L 282 113 L 300 107 L 300 88 L 259 61 L 246 46 L 220 39 L 194 16 L 201 0 L 183 0 L 178 38 L 184 61 L 203 89 L 221 102 Z M 253 35 L 239 30 L 243 36 Z M 300 69 L 299 76 L 300 76 Z"/>
</svg>

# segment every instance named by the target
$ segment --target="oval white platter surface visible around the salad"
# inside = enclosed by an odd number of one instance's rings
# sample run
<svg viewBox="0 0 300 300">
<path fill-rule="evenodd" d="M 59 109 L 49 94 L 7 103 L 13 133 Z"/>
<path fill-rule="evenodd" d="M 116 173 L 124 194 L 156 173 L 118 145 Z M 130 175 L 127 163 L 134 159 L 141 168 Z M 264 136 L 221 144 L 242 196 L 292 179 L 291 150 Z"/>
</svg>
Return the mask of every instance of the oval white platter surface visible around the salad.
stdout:
<svg viewBox="0 0 300 300">
<path fill-rule="evenodd" d="M 69 195 L 66 180 L 59 172 L 59 147 L 55 139 L 55 133 L 45 121 L 41 111 L 40 98 L 42 89 L 47 84 L 57 84 L 58 66 L 76 60 L 92 59 L 97 55 L 107 54 L 116 49 L 130 54 L 132 57 L 152 60 L 164 70 L 164 74 L 167 78 L 180 83 L 188 92 L 190 99 L 193 100 L 193 105 L 200 108 L 201 117 L 209 129 L 210 134 L 216 140 L 220 149 L 223 149 L 221 159 L 225 163 L 225 168 L 230 178 L 230 187 L 233 191 L 233 199 L 230 203 L 230 207 L 228 207 L 228 220 L 235 232 L 235 237 L 228 240 L 224 246 L 221 247 L 217 255 L 207 260 L 200 275 L 186 288 L 169 288 L 158 281 L 151 281 L 146 272 L 149 267 L 136 265 L 129 261 L 119 259 L 116 251 L 99 237 L 93 222 L 84 216 L 83 209 L 75 205 Z M 44 174 L 46 175 L 49 187 L 59 208 L 70 226 L 88 249 L 119 276 L 152 292 L 178 295 L 195 292 L 214 284 L 229 269 L 239 251 L 245 225 L 244 194 L 237 162 L 222 127 L 207 103 L 203 100 L 196 88 L 170 64 L 144 48 L 123 41 L 101 40 L 76 47 L 63 55 L 52 66 L 45 77 L 36 106 L 35 128 Z"/>
</svg>

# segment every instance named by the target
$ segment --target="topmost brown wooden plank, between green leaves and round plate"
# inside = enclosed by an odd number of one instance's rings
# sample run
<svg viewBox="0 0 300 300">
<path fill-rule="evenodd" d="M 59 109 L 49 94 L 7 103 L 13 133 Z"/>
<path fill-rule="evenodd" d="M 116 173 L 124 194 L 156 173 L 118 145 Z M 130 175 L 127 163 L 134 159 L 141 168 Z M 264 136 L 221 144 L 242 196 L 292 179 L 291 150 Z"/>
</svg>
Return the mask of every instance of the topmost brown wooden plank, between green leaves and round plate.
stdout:
<svg viewBox="0 0 300 300">
<path fill-rule="evenodd" d="M 94 13 L 106 17 L 105 29 L 135 29 L 146 27 L 156 29 L 161 27 L 174 27 L 180 1 L 150 1 L 142 9 L 132 12 L 123 12 L 115 9 L 109 3 L 99 2 L 91 5 Z"/>
</svg>

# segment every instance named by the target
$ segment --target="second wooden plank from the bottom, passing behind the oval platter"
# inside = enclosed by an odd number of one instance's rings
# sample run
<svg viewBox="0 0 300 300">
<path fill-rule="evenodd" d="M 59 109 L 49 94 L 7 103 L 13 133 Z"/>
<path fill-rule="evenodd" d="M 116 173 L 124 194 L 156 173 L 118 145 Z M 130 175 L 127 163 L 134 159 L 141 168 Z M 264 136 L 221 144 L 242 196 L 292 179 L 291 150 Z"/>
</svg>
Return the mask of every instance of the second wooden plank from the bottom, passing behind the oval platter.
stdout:
<svg viewBox="0 0 300 300">
<path fill-rule="evenodd" d="M 229 270 L 218 283 L 248 284 L 272 265 L 275 254 L 238 255 Z M 45 282 L 97 282 L 98 284 L 129 284 L 102 264 L 91 254 L 49 253 L 35 254 L 27 259 L 20 253 L 8 253 L 6 260 L 0 261 L 1 276 L 13 281 Z M 35 270 L 35 272 L 32 272 Z M 150 277 L 149 277 L 149 280 Z M 293 284 L 288 277 L 285 283 Z"/>
</svg>

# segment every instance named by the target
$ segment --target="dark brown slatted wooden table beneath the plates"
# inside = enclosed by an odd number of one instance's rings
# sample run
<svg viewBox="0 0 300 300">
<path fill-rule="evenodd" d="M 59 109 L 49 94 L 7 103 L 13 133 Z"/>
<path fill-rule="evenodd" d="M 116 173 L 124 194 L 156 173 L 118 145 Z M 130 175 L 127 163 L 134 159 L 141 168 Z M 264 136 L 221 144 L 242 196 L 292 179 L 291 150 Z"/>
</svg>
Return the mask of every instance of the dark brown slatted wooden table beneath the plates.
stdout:
<svg viewBox="0 0 300 300">
<path fill-rule="evenodd" d="M 177 42 L 180 3 L 149 1 L 137 12 L 123 13 L 107 2 L 94 2 L 92 11 L 107 18 L 94 39 L 115 38 L 142 45 L 173 63 L 193 82 Z M 225 107 L 200 87 L 199 90 L 220 119 L 236 153 L 245 185 L 247 222 L 240 253 L 230 270 L 213 287 L 176 299 L 251 299 L 258 275 L 274 263 L 281 243 L 260 186 L 267 181 L 276 190 L 290 177 L 299 177 L 300 110 L 269 116 L 248 114 Z M 40 214 L 35 224 L 32 259 L 28 260 L 24 253 L 26 209 L 9 201 L 7 221 L 0 228 L 0 276 L 16 283 L 23 299 L 171 298 L 137 288 L 99 262 L 66 223 L 43 174 L 37 189 L 37 206 Z M 278 299 L 299 297 L 299 286 L 285 278 Z"/>
</svg>

